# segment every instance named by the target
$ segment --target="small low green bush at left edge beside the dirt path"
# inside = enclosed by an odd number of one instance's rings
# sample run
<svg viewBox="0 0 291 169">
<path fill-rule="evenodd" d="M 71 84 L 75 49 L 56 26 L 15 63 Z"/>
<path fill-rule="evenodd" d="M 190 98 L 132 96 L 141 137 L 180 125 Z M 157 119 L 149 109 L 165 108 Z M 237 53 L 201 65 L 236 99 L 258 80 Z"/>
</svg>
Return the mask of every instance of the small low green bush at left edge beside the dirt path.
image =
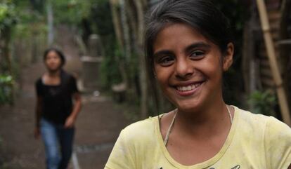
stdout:
<svg viewBox="0 0 291 169">
<path fill-rule="evenodd" d="M 10 75 L 0 74 L 0 105 L 12 103 L 13 78 Z"/>
</svg>

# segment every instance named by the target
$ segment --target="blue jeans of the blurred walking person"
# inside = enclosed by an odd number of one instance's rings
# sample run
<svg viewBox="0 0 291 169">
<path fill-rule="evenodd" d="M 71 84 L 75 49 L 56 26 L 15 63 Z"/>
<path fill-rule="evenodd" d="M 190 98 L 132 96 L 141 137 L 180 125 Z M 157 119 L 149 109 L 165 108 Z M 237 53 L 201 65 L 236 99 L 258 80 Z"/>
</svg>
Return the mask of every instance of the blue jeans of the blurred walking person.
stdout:
<svg viewBox="0 0 291 169">
<path fill-rule="evenodd" d="M 66 169 L 72 155 L 75 128 L 41 119 L 41 137 L 44 140 L 47 169 Z"/>
</svg>

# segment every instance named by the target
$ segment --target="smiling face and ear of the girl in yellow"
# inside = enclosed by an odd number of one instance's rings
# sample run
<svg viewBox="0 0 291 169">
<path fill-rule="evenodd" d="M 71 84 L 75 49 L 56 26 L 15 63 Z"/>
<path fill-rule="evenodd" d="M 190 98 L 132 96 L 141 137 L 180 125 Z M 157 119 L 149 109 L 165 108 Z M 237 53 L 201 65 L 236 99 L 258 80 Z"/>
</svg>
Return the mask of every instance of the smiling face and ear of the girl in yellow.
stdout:
<svg viewBox="0 0 291 169">
<path fill-rule="evenodd" d="M 222 73 L 231 66 L 233 44 L 226 55 L 192 27 L 175 23 L 153 43 L 154 71 L 164 95 L 181 111 L 195 111 L 222 100 Z"/>
</svg>

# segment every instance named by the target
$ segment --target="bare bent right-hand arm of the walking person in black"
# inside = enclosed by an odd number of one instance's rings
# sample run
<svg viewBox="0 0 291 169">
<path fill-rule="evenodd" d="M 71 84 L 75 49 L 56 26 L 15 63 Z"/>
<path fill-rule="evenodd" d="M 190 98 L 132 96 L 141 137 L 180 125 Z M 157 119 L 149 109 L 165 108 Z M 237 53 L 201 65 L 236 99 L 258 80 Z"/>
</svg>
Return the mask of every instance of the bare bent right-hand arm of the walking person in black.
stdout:
<svg viewBox="0 0 291 169">
<path fill-rule="evenodd" d="M 72 109 L 71 115 L 68 116 L 65 121 L 65 128 L 72 128 L 74 126 L 74 123 L 77 119 L 79 111 L 81 110 L 81 107 L 82 107 L 81 95 L 79 93 L 74 93 L 73 99 L 75 100 L 75 104 Z"/>
</svg>

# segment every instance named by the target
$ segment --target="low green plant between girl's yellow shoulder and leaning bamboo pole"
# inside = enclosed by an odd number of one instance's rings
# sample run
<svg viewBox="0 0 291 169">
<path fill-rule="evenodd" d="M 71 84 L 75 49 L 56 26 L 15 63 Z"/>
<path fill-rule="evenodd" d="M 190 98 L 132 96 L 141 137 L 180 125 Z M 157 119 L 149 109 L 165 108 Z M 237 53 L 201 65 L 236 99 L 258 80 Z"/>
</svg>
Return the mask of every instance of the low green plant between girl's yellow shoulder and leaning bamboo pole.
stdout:
<svg viewBox="0 0 291 169">
<path fill-rule="evenodd" d="M 271 90 L 255 91 L 250 95 L 248 103 L 255 114 L 275 116 L 276 95 Z"/>
</svg>

